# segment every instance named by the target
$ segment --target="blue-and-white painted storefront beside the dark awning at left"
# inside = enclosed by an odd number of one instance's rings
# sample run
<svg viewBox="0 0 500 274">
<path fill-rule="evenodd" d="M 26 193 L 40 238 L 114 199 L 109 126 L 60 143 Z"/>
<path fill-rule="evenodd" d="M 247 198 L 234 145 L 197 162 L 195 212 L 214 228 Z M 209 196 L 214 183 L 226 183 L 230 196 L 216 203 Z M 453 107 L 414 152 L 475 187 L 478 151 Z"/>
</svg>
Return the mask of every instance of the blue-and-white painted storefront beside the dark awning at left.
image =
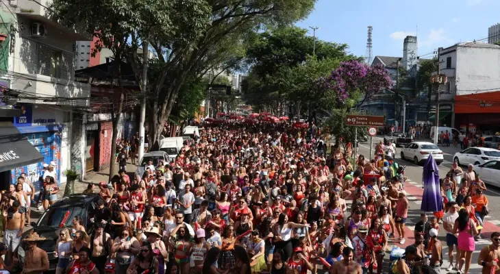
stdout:
<svg viewBox="0 0 500 274">
<path fill-rule="evenodd" d="M 18 166 L 11 171 L 11 183 L 21 173 L 26 173 L 32 182 L 37 182 L 43 169 L 43 164 L 55 163 L 56 179 L 61 182 L 62 166 L 62 116 L 63 111 L 49 106 L 21 105 L 21 116 L 14 118 L 14 126 L 42 156 L 36 163 Z M 65 166 L 65 165 L 64 165 Z M 38 184 L 34 184 L 38 191 Z"/>
</svg>

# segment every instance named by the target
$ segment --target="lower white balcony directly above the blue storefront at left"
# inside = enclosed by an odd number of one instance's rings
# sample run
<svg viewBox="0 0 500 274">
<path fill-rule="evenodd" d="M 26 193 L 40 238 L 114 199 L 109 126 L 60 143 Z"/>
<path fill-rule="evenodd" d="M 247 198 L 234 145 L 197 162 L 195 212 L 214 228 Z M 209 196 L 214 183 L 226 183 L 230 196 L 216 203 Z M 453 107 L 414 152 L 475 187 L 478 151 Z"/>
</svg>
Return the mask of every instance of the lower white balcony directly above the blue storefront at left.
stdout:
<svg viewBox="0 0 500 274">
<path fill-rule="evenodd" d="M 90 84 L 34 74 L 12 79 L 12 89 L 18 90 L 19 103 L 48 105 L 90 105 Z"/>
</svg>

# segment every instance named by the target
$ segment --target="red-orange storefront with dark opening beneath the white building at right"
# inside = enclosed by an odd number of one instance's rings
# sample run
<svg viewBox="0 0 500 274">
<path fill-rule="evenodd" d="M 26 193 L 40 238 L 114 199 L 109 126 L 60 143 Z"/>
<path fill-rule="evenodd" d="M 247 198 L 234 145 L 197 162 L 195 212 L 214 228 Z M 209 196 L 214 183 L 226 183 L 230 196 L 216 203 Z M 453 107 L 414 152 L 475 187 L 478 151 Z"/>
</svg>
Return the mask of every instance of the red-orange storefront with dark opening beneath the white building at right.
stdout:
<svg viewBox="0 0 500 274">
<path fill-rule="evenodd" d="M 500 91 L 455 96 L 454 126 L 466 132 L 498 132 Z"/>
</svg>

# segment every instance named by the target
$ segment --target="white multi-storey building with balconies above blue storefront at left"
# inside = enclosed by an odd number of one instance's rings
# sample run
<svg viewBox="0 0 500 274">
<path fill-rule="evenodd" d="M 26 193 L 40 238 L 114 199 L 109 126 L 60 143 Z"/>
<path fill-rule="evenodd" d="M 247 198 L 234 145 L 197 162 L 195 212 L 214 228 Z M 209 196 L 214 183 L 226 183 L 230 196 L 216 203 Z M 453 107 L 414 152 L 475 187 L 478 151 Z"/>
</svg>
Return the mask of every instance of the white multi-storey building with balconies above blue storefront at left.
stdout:
<svg viewBox="0 0 500 274">
<path fill-rule="evenodd" d="M 53 162 L 55 179 L 66 182 L 63 171 L 73 167 L 71 149 L 81 145 L 71 142 L 73 112 L 88 108 L 90 101 L 90 85 L 75 82 L 76 41 L 92 37 L 49 19 L 47 10 L 36 1 L 1 1 L 0 86 L 16 101 L 0 105 L 20 109 L 21 115 L 0 119 L 11 123 L 41 158 L 8 171 L 0 169 L 0 181 L 14 183 L 26 173 L 36 182 L 42 164 Z"/>
</svg>

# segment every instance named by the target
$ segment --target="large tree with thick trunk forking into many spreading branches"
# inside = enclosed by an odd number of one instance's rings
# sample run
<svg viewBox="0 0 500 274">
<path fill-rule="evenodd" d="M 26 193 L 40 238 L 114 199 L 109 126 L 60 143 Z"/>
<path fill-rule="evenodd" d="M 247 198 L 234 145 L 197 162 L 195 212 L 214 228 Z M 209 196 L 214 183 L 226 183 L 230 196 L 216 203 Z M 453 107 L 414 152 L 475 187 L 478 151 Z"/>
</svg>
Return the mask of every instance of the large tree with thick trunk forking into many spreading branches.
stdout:
<svg viewBox="0 0 500 274">
<path fill-rule="evenodd" d="M 316 0 L 168 0 L 162 12 L 170 18 L 168 31 L 141 35 L 149 40 L 161 66 L 159 77 L 148 77 L 151 108 L 147 109 L 149 143 L 158 144 L 175 99 L 190 75 L 231 66 L 227 53 L 240 53 L 242 41 L 262 25 L 286 25 L 307 16 Z M 145 18 L 145 25 L 153 25 Z M 162 26 L 160 26 L 162 27 Z M 195 29 L 193 31 L 192 29 Z M 237 55 L 237 54 L 236 54 Z M 231 55 L 231 57 L 234 54 Z M 228 60 L 229 59 L 229 60 Z M 139 71 L 140 58 L 132 53 Z M 138 73 L 138 77 L 142 77 Z"/>
</svg>

